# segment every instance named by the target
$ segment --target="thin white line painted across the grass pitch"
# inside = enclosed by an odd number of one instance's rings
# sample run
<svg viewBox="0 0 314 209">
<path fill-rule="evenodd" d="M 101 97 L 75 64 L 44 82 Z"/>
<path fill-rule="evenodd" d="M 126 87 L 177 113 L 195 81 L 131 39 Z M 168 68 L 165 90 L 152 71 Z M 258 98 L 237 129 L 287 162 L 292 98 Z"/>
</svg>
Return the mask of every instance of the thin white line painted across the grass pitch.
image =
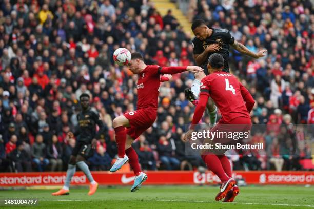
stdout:
<svg viewBox="0 0 314 209">
<path fill-rule="evenodd" d="M 64 202 L 72 202 L 72 201 L 93 201 L 93 200 L 38 200 L 38 201 L 64 201 Z M 106 201 L 106 200 L 102 200 Z M 110 200 L 109 200 L 110 201 Z M 114 200 L 114 201 L 142 201 L 142 200 Z M 199 202 L 199 203 L 216 203 L 216 202 L 208 202 L 208 201 L 198 201 L 198 200 L 144 200 L 143 201 L 156 201 L 156 202 Z M 252 203 L 252 202 L 217 202 L 221 204 L 248 204 L 248 205 L 273 205 L 273 206 L 294 206 L 294 207 L 314 207 L 314 205 L 300 205 L 300 204 L 276 204 L 276 203 Z"/>
</svg>

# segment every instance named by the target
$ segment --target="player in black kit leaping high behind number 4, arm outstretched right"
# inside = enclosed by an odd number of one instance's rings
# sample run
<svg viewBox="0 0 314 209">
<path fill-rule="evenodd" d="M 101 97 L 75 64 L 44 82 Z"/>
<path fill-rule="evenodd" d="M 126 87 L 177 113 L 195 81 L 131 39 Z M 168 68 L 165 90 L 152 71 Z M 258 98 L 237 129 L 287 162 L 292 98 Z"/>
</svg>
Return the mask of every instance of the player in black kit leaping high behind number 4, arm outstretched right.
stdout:
<svg viewBox="0 0 314 209">
<path fill-rule="evenodd" d="M 194 20 L 191 29 L 195 35 L 192 39 L 193 45 L 193 57 L 196 64 L 203 69 L 207 69 L 207 60 L 213 53 L 222 55 L 224 59 L 224 72 L 229 72 L 228 58 L 230 45 L 242 54 L 246 54 L 253 58 L 260 58 L 266 55 L 267 50 L 261 50 L 258 53 L 254 53 L 246 48 L 243 44 L 234 40 L 229 30 L 209 28 L 202 19 Z M 209 72 L 205 70 L 205 74 Z M 197 105 L 196 100 L 200 94 L 201 77 L 195 75 L 195 80 L 192 83 L 191 90 L 185 90 L 186 98 L 194 105 Z M 210 116 L 210 123 L 215 124 L 217 119 L 217 107 L 214 105 L 211 99 L 208 100 L 207 110 Z"/>
</svg>

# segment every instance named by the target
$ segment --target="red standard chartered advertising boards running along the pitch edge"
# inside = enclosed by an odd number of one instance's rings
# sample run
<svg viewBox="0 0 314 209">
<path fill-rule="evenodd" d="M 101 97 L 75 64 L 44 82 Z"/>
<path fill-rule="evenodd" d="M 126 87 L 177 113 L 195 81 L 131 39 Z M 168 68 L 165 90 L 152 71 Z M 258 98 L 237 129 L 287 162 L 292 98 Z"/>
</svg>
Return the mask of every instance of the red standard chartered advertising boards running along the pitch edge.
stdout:
<svg viewBox="0 0 314 209">
<path fill-rule="evenodd" d="M 133 173 L 92 172 L 94 179 L 101 185 L 132 184 Z M 211 172 L 193 171 L 148 171 L 146 185 L 193 185 L 219 183 Z M 62 185 L 65 172 L 43 173 L 0 173 L 0 186 L 38 186 Z M 314 172 L 274 172 L 274 171 L 235 171 L 233 178 L 243 178 L 248 184 L 314 184 Z M 82 172 L 72 178 L 72 185 L 87 185 L 88 179 Z"/>
</svg>

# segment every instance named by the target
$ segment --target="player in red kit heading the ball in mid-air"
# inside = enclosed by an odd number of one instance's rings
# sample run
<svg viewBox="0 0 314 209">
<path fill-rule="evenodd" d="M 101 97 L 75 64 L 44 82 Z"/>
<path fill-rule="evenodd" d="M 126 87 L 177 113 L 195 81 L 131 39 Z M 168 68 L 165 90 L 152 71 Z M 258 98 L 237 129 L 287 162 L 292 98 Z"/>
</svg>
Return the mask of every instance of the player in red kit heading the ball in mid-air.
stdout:
<svg viewBox="0 0 314 209">
<path fill-rule="evenodd" d="M 135 192 L 147 179 L 147 175 L 141 172 L 138 155 L 131 144 L 148 129 L 156 119 L 161 75 L 176 74 L 185 71 L 197 73 L 203 72 L 203 69 L 198 66 L 162 67 L 146 65 L 142 55 L 138 52 L 132 53 L 128 67 L 133 74 L 139 75 L 136 86 L 136 89 L 138 89 L 137 109 L 116 117 L 113 120 L 118 157 L 110 169 L 110 172 L 119 170 L 123 164 L 129 161 L 135 175 L 131 192 Z"/>
</svg>

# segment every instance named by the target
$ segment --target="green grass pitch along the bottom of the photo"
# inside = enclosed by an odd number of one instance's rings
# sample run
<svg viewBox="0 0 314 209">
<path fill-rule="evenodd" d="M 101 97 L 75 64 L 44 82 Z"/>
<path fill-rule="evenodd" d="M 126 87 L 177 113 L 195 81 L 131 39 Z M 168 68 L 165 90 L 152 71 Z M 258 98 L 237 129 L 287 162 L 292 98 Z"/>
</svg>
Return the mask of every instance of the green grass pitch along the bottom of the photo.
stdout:
<svg viewBox="0 0 314 209">
<path fill-rule="evenodd" d="M 214 201 L 217 186 L 146 186 L 135 192 L 126 187 L 100 187 L 88 196 L 87 187 L 72 187 L 70 195 L 52 196 L 56 190 L 5 190 L 0 199 L 38 199 L 32 208 L 314 208 L 314 187 L 241 187 L 234 203 Z M 3 203 L 3 201 L 2 201 Z M 0 208 L 5 208 L 2 204 Z M 21 208 L 30 206 L 7 206 Z"/>
</svg>

